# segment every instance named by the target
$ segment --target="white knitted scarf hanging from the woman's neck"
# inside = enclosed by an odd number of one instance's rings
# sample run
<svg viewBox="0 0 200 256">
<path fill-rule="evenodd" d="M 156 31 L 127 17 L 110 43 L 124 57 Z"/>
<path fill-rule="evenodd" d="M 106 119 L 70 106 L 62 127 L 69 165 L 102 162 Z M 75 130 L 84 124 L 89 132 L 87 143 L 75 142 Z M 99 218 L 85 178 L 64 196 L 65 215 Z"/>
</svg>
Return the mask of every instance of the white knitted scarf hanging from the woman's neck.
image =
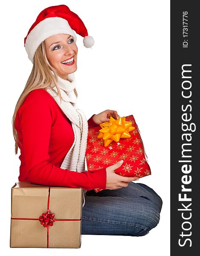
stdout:
<svg viewBox="0 0 200 256">
<path fill-rule="evenodd" d="M 53 73 L 52 73 L 53 74 Z M 88 122 L 85 113 L 77 107 L 76 80 L 74 73 L 68 75 L 68 80 L 57 76 L 57 85 L 60 88 L 62 101 L 57 95 L 57 88 L 47 89 L 48 93 L 57 102 L 63 113 L 71 121 L 71 126 L 74 131 L 74 142 L 66 154 L 61 169 L 69 169 L 74 172 L 85 171 L 85 154 L 88 136 Z M 84 194 L 87 190 L 83 190 L 83 206 L 85 204 Z"/>
</svg>

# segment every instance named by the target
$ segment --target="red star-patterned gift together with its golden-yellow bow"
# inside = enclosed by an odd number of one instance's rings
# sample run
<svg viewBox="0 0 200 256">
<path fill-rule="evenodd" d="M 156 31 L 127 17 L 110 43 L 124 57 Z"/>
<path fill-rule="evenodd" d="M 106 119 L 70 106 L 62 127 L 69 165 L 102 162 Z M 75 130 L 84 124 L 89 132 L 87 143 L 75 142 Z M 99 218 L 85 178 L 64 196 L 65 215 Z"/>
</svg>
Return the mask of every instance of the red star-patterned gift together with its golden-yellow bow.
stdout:
<svg viewBox="0 0 200 256">
<path fill-rule="evenodd" d="M 143 141 L 133 115 L 110 118 L 110 122 L 88 131 L 86 163 L 88 170 L 109 167 L 123 160 L 114 172 L 126 177 L 151 175 Z M 103 189 L 94 189 L 99 192 Z"/>
</svg>

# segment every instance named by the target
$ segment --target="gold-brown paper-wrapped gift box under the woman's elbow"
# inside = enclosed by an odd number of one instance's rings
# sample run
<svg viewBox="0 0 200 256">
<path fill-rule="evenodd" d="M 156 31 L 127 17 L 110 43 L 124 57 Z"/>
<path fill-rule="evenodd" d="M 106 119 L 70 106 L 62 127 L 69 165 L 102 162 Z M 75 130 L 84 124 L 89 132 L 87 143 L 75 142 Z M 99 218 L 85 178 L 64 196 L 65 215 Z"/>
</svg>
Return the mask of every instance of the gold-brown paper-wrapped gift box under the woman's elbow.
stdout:
<svg viewBox="0 0 200 256">
<path fill-rule="evenodd" d="M 47 228 L 39 217 L 48 205 L 55 221 Z M 11 188 L 10 247 L 80 248 L 82 207 L 82 188 L 15 183 Z"/>
</svg>

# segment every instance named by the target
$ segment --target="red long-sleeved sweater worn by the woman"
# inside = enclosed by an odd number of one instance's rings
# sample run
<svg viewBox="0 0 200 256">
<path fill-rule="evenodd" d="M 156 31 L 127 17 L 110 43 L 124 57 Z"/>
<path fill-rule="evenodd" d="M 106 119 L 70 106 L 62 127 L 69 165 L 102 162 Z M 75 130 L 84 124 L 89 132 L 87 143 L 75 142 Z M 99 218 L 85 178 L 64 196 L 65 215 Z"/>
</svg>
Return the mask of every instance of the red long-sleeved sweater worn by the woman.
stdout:
<svg viewBox="0 0 200 256">
<path fill-rule="evenodd" d="M 89 128 L 97 124 L 88 120 Z M 73 172 L 60 166 L 74 141 L 71 122 L 44 89 L 31 91 L 17 111 L 19 181 L 40 185 L 106 189 L 106 169 Z"/>
</svg>

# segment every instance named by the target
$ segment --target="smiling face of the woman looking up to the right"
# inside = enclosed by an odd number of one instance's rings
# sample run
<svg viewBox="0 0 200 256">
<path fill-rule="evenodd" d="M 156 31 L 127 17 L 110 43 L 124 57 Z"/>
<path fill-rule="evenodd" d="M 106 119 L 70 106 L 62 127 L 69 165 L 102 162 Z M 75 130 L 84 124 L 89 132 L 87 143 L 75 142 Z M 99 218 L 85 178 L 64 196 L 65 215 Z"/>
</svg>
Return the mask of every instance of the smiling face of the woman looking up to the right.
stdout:
<svg viewBox="0 0 200 256">
<path fill-rule="evenodd" d="M 73 36 L 66 34 L 52 35 L 45 40 L 45 48 L 47 59 L 57 71 L 58 76 L 67 79 L 69 74 L 77 70 L 78 48 Z"/>
</svg>

